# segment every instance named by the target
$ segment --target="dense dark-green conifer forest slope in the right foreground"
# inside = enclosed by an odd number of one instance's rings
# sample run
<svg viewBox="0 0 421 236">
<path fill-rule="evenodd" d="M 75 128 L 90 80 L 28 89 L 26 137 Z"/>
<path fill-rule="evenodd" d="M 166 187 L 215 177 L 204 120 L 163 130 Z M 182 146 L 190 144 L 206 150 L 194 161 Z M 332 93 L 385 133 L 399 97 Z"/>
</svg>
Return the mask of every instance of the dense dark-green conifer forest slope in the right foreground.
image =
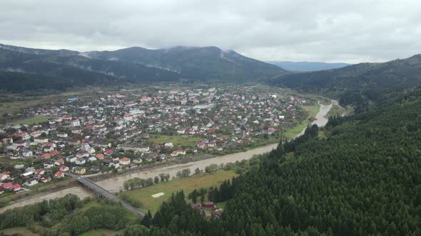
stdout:
<svg viewBox="0 0 421 236">
<path fill-rule="evenodd" d="M 331 119 L 325 138 L 311 127 L 210 192 L 230 198 L 222 218 L 198 217 L 180 193 L 126 235 L 420 235 L 420 111 L 416 90 Z"/>
</svg>

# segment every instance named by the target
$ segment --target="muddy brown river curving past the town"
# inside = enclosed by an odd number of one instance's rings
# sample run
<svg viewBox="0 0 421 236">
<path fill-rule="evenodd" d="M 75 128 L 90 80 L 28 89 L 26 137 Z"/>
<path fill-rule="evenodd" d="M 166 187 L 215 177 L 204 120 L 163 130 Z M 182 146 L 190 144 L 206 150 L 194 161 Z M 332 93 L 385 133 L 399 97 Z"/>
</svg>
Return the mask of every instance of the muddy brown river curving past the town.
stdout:
<svg viewBox="0 0 421 236">
<path fill-rule="evenodd" d="M 325 117 L 325 116 L 326 116 L 326 114 L 328 114 L 328 112 L 332 108 L 333 104 L 337 104 L 337 101 L 332 100 L 332 103 L 329 104 L 329 105 L 320 104 L 320 110 L 319 110 L 318 114 L 316 114 L 315 120 L 311 124 L 317 124 L 319 127 L 325 126 L 325 124 L 328 123 L 328 118 Z M 303 129 L 303 131 L 300 134 L 298 134 L 298 136 L 304 134 L 304 131 L 305 131 L 305 129 Z M 194 173 L 194 170 L 196 168 L 200 168 L 201 170 L 203 170 L 206 166 L 209 166 L 210 164 L 213 164 L 213 163 L 220 165 L 221 163 L 229 163 L 229 162 L 235 162 L 235 161 L 242 161 L 242 160 L 250 159 L 254 155 L 264 154 L 268 151 L 271 151 L 272 149 L 275 149 L 275 147 L 277 145 L 278 144 L 269 144 L 269 145 L 266 145 L 266 146 L 259 147 L 257 149 L 251 149 L 249 151 L 238 152 L 236 154 L 216 156 L 216 157 L 213 157 L 213 158 L 210 158 L 210 159 L 204 159 L 204 160 L 201 160 L 201 161 L 194 161 L 194 162 L 189 162 L 189 163 L 176 164 L 176 165 L 173 165 L 173 166 L 157 167 L 157 168 L 153 168 L 153 169 L 148 170 L 148 171 L 139 171 L 137 173 L 129 173 L 125 176 L 117 176 L 115 178 L 108 178 L 108 179 L 103 180 L 103 181 L 98 181 L 98 182 L 96 182 L 96 184 L 98 184 L 102 188 L 105 188 L 108 191 L 116 193 L 123 188 L 124 181 L 127 181 L 130 178 L 135 178 L 135 177 L 138 177 L 138 178 L 153 178 L 155 176 L 158 176 L 159 173 L 169 173 L 170 176 L 172 177 L 172 176 L 176 176 L 177 171 L 181 171 L 184 168 L 190 168 L 191 173 Z M 94 195 L 91 191 L 88 191 L 86 188 L 83 188 L 81 186 L 66 188 L 64 190 L 56 191 L 54 193 L 46 193 L 44 195 L 34 195 L 32 198 L 25 199 L 25 200 L 19 201 L 17 203 L 13 203 L 11 205 L 7 205 L 4 208 L 0 208 L 0 213 L 3 212 L 4 210 L 10 209 L 10 208 L 21 207 L 21 206 L 24 206 L 24 205 L 40 202 L 42 200 L 49 200 L 49 199 L 53 199 L 53 198 L 61 198 L 68 193 L 76 194 L 76 195 L 79 196 L 79 198 L 86 198 L 88 196 Z"/>
</svg>

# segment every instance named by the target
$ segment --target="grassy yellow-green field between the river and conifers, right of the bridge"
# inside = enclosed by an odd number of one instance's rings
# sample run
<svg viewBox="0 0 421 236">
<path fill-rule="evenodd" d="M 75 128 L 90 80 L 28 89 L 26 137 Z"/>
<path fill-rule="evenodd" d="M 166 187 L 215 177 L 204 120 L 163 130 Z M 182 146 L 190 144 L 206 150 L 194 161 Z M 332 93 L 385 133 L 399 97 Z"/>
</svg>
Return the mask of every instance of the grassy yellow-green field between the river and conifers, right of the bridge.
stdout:
<svg viewBox="0 0 421 236">
<path fill-rule="evenodd" d="M 143 203 L 142 210 L 151 210 L 151 213 L 156 213 L 164 200 L 171 198 L 172 193 L 183 190 L 186 194 L 193 191 L 195 188 L 210 188 L 212 186 L 219 186 L 220 183 L 226 179 L 238 176 L 234 171 L 218 170 L 213 173 L 201 173 L 196 176 L 189 176 L 186 178 L 176 178 L 168 182 L 161 182 L 153 186 L 145 188 L 138 188 L 132 191 L 126 191 L 123 194 L 128 194 L 133 198 L 137 198 Z M 165 195 L 153 198 L 151 195 L 155 193 L 165 193 Z"/>
</svg>

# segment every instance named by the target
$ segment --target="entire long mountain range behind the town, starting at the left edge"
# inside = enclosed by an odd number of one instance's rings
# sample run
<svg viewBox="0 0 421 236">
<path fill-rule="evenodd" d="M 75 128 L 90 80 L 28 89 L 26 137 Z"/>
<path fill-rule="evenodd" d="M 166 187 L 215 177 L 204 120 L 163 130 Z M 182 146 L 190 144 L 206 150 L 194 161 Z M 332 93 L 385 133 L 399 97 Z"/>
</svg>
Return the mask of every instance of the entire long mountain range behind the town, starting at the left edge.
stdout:
<svg viewBox="0 0 421 236">
<path fill-rule="evenodd" d="M 38 90 L 40 85 L 66 90 L 73 86 L 178 80 L 243 82 L 263 80 L 284 72 L 275 65 L 216 47 L 125 48 L 80 53 L 0 44 L 0 82 L 9 83 L 1 90 L 6 92 Z M 31 87 L 32 77 L 38 82 L 37 86 Z"/>
</svg>

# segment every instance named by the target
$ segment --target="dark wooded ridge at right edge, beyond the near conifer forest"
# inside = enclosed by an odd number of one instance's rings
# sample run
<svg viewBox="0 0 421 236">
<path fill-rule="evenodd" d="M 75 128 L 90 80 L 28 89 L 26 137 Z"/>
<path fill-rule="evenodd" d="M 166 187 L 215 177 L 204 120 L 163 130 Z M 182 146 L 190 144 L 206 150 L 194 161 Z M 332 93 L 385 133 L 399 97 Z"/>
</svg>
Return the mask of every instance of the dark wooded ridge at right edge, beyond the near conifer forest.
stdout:
<svg viewBox="0 0 421 236">
<path fill-rule="evenodd" d="M 379 100 L 385 93 L 421 85 L 421 55 L 387 63 L 360 63 L 333 70 L 291 73 L 267 82 L 336 97 L 341 104 L 367 104 Z"/>
</svg>

